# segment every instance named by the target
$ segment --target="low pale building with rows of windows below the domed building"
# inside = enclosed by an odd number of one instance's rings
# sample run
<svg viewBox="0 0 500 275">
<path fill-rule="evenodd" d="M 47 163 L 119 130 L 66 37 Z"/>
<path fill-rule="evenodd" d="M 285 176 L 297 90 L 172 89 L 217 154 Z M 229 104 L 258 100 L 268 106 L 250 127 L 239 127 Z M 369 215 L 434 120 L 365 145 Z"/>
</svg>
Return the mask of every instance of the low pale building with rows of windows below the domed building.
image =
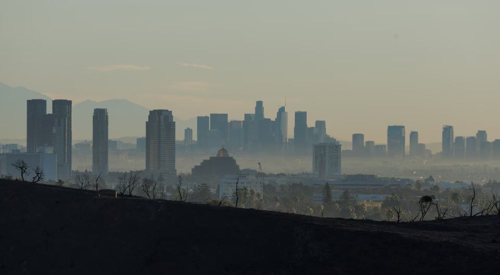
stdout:
<svg viewBox="0 0 500 275">
<path fill-rule="evenodd" d="M 264 183 L 251 174 L 226 175 L 219 180 L 219 198 L 231 198 L 236 191 L 236 181 L 238 182 L 238 190 L 246 187 L 248 190 L 253 190 L 255 193 L 262 194 Z"/>
</svg>

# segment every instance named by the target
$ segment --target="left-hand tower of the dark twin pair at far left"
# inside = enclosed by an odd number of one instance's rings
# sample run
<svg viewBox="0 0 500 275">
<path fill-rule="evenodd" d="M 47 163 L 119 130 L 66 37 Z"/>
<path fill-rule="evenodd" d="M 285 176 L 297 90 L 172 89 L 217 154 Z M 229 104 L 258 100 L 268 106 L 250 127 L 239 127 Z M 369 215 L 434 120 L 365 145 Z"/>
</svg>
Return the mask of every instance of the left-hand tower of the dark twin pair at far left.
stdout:
<svg viewBox="0 0 500 275">
<path fill-rule="evenodd" d="M 35 153 L 40 142 L 40 121 L 47 113 L 45 99 L 30 99 L 26 101 L 26 152 Z"/>
</svg>

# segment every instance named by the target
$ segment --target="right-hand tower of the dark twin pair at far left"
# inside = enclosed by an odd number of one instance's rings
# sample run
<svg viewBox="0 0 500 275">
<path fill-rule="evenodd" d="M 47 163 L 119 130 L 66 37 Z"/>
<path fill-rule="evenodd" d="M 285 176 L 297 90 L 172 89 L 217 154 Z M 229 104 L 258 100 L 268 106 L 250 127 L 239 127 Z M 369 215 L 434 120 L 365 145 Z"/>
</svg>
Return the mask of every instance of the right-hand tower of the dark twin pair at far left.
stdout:
<svg viewBox="0 0 500 275">
<path fill-rule="evenodd" d="M 57 178 L 71 178 L 71 100 L 52 100 L 55 116 L 54 152 L 57 154 Z"/>
</svg>

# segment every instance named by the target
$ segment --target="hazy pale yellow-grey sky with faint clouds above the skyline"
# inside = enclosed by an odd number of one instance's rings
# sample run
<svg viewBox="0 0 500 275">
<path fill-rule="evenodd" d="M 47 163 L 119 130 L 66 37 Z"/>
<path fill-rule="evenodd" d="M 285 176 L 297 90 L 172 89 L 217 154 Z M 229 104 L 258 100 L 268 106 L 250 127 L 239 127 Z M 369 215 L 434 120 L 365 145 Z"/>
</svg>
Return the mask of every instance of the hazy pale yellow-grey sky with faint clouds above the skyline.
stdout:
<svg viewBox="0 0 500 275">
<path fill-rule="evenodd" d="M 126 98 L 186 119 L 242 119 L 287 97 L 309 124 L 385 142 L 500 138 L 497 0 L 0 0 L 0 81 L 51 97 Z M 1 100 L 1 99 L 0 99 Z"/>
</svg>

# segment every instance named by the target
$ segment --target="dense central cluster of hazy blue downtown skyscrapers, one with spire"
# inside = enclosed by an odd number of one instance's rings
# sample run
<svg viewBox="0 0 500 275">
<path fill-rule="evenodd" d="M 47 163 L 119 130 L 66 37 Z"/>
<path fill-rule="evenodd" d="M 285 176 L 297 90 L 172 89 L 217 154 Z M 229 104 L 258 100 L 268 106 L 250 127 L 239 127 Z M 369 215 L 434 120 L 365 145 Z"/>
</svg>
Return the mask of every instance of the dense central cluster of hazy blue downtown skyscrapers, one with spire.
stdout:
<svg viewBox="0 0 500 275">
<path fill-rule="evenodd" d="M 307 112 L 296 111 L 293 139 L 289 142 L 285 106 L 278 108 L 274 119 L 266 118 L 260 100 L 255 102 L 255 112 L 245 113 L 243 120 L 228 121 L 227 113 L 211 113 L 197 117 L 196 129 L 200 149 L 224 145 L 232 151 L 283 154 L 290 143 L 296 154 L 305 155 L 311 152 L 312 144 L 330 140 L 324 120 L 316 120 L 315 125 L 309 127 Z"/>
</svg>

